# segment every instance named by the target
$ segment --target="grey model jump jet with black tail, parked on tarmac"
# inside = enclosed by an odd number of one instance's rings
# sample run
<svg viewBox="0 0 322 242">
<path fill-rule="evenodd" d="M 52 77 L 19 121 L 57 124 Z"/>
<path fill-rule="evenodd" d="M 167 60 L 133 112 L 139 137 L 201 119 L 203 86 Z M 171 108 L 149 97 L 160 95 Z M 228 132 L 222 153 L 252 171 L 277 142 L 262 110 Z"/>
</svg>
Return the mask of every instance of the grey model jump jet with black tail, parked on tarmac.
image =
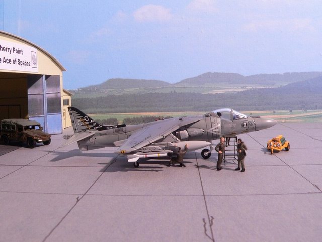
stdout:
<svg viewBox="0 0 322 242">
<path fill-rule="evenodd" d="M 212 141 L 224 135 L 263 130 L 277 122 L 260 116 L 247 116 L 231 108 L 217 109 L 198 116 L 158 120 L 140 125 L 105 126 L 95 122 L 75 107 L 68 107 L 74 130 L 65 135 L 68 141 L 61 147 L 77 142 L 82 151 L 106 146 L 117 147 L 115 153 L 126 155 L 129 162 L 139 167 L 139 158 L 171 157 L 187 144 L 188 151 L 209 146 L 201 153 L 209 158 L 214 149 Z"/>
</svg>

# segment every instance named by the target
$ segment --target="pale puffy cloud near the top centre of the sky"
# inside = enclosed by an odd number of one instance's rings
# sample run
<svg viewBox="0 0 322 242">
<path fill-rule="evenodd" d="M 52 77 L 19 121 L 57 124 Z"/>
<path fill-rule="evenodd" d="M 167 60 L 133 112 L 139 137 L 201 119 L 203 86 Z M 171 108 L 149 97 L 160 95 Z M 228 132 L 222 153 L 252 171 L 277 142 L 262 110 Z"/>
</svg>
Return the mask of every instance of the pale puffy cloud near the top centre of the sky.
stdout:
<svg viewBox="0 0 322 242">
<path fill-rule="evenodd" d="M 133 13 L 137 22 L 166 22 L 172 19 L 171 9 L 161 5 L 145 5 Z"/>
</svg>

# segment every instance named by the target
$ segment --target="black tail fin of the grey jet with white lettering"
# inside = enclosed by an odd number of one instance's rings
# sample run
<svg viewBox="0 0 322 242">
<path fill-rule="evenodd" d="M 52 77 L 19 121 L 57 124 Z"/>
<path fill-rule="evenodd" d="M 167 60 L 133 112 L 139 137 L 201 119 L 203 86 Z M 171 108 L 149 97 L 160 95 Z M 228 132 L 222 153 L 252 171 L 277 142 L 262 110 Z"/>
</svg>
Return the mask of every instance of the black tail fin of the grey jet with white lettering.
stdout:
<svg viewBox="0 0 322 242">
<path fill-rule="evenodd" d="M 109 130 L 119 127 L 124 127 L 125 125 L 100 125 L 89 115 L 85 114 L 81 110 L 75 107 L 68 107 L 71 125 L 75 133 L 79 133 L 86 130 Z"/>
</svg>

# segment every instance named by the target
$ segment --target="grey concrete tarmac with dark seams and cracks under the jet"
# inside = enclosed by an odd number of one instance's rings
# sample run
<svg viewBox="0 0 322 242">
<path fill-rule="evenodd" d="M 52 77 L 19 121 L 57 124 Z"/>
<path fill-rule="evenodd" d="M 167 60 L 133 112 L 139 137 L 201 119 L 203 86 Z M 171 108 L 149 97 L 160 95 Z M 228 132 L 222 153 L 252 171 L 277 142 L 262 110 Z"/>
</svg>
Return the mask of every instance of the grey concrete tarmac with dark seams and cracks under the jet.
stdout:
<svg viewBox="0 0 322 242">
<path fill-rule="evenodd" d="M 70 133 L 34 149 L 0 145 L 0 241 L 321 241 L 321 123 L 238 136 L 244 173 L 233 161 L 217 171 L 216 152 L 204 160 L 201 150 L 186 168 L 134 168 L 113 147 L 59 148 Z M 279 134 L 291 148 L 271 155 Z"/>
</svg>

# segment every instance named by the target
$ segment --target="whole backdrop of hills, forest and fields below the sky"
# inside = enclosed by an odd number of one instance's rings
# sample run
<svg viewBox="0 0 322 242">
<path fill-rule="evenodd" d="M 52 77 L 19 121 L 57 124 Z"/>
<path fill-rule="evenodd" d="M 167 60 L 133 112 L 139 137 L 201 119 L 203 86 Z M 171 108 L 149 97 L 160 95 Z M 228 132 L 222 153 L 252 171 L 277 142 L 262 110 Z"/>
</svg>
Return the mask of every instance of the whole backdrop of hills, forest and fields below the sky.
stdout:
<svg viewBox="0 0 322 242">
<path fill-rule="evenodd" d="M 322 118 L 322 72 L 248 77 L 234 73 L 205 73 L 175 84 L 110 79 L 74 90 L 72 100 L 73 106 L 82 107 L 88 113 L 113 113 L 98 117 L 117 116 L 119 122 L 133 115 L 147 115 L 147 112 L 154 116 L 176 116 L 188 111 L 188 114 L 192 114 L 191 111 L 206 113 L 221 107 L 246 111 L 248 115 L 269 115 L 277 120 L 316 121 Z M 124 117 L 124 114 L 115 113 L 128 114 Z M 113 122 L 115 124 L 115 120 Z"/>
</svg>

